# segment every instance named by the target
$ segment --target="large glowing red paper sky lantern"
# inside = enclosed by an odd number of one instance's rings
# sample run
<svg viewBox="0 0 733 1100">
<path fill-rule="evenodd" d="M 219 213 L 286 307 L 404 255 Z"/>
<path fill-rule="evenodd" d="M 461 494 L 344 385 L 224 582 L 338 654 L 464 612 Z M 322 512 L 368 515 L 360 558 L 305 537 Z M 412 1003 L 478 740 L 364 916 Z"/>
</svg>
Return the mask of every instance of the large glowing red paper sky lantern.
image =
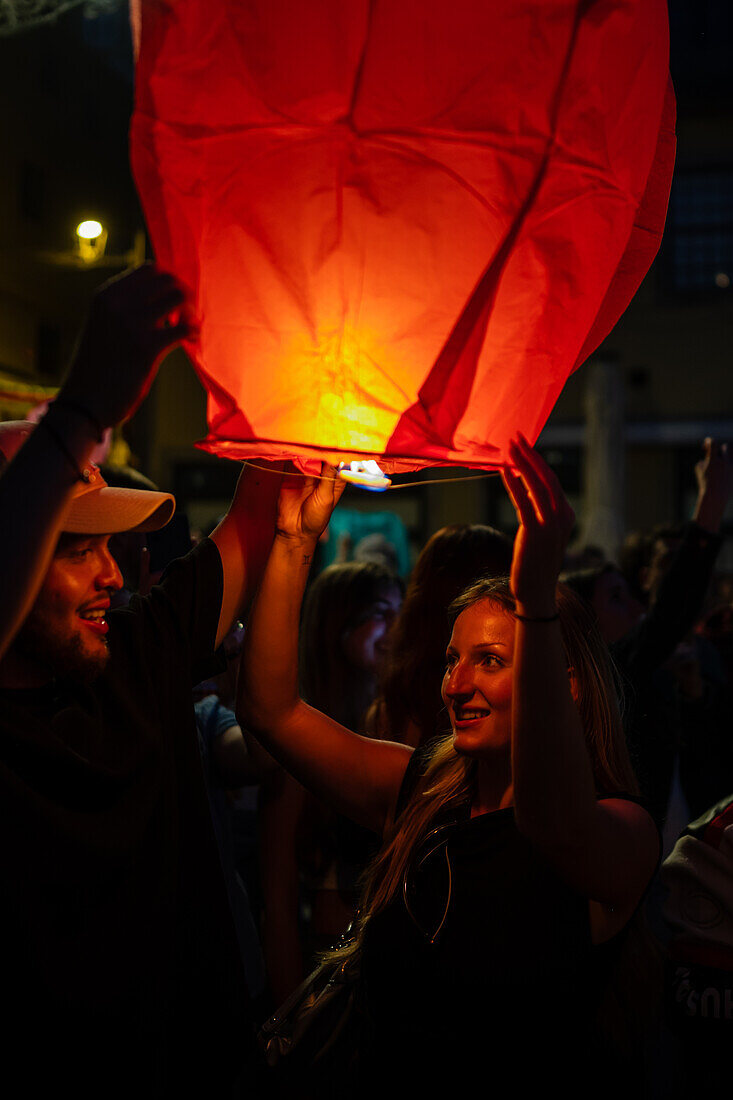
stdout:
<svg viewBox="0 0 733 1100">
<path fill-rule="evenodd" d="M 491 466 L 658 248 L 664 0 L 142 0 L 133 172 L 201 444 Z"/>
</svg>

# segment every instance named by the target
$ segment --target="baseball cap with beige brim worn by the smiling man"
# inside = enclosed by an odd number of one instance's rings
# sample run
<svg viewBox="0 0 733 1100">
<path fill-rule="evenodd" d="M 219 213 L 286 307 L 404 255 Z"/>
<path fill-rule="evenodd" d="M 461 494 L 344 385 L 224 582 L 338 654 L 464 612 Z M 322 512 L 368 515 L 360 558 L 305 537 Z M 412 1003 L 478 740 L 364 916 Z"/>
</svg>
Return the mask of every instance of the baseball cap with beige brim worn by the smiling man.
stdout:
<svg viewBox="0 0 733 1100">
<path fill-rule="evenodd" d="M 0 455 L 10 462 L 36 428 L 30 420 L 0 424 Z M 3 465 L 0 462 L 0 466 Z M 74 535 L 116 535 L 120 531 L 157 531 L 176 509 L 171 493 L 108 485 L 99 468 L 88 463 L 88 481 L 74 488 L 64 530 Z"/>
</svg>

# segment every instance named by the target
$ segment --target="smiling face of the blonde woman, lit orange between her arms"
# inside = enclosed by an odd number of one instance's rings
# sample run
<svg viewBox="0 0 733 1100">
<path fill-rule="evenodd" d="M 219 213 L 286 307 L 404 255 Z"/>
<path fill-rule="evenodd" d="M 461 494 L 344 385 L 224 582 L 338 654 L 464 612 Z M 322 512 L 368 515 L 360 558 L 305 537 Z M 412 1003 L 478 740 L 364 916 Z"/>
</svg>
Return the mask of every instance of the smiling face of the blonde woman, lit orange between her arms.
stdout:
<svg viewBox="0 0 733 1100">
<path fill-rule="evenodd" d="M 442 701 L 456 751 L 475 758 L 508 749 L 512 739 L 514 618 L 491 600 L 456 619 L 446 653 Z"/>
</svg>

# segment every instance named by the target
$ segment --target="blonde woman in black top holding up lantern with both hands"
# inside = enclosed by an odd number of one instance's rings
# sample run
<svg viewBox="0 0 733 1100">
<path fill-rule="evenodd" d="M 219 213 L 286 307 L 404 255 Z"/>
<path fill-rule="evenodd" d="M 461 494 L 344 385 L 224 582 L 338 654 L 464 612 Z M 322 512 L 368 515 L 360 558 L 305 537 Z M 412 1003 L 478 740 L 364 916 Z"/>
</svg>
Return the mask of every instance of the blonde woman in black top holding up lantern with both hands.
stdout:
<svg viewBox="0 0 733 1100">
<path fill-rule="evenodd" d="M 622 1081 L 597 1021 L 659 836 L 633 798 L 603 644 L 558 590 L 575 517 L 522 437 L 510 458 L 511 575 L 455 608 L 451 730 L 429 751 L 360 737 L 299 698 L 298 607 L 335 472 L 281 494 L 242 721 L 302 782 L 384 836 L 344 948 L 360 954 L 364 1007 L 344 1097 L 395 1080 L 423 1096 L 489 1087 L 499 1072 L 519 1096 L 606 1096 Z"/>
</svg>

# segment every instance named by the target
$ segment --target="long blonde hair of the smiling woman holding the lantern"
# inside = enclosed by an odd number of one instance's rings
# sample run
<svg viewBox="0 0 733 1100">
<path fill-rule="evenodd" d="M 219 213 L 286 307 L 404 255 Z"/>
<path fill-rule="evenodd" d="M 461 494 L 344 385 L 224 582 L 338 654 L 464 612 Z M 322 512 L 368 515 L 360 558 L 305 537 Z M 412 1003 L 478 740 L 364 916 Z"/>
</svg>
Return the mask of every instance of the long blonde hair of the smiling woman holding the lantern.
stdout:
<svg viewBox="0 0 733 1100">
<path fill-rule="evenodd" d="M 514 614 L 508 580 L 489 578 L 477 581 L 453 601 L 449 608 L 450 625 L 467 607 L 482 600 Z M 590 609 L 565 585 L 557 586 L 557 606 L 597 792 L 635 794 L 637 783 L 621 721 L 619 681 L 606 645 Z M 353 938 L 331 954 L 348 957 L 358 949 L 371 917 L 400 890 L 412 855 L 436 815 L 472 795 L 475 771 L 475 761 L 456 751 L 452 733 L 436 738 L 423 774 L 385 835 L 380 853 L 364 871 Z"/>
</svg>

